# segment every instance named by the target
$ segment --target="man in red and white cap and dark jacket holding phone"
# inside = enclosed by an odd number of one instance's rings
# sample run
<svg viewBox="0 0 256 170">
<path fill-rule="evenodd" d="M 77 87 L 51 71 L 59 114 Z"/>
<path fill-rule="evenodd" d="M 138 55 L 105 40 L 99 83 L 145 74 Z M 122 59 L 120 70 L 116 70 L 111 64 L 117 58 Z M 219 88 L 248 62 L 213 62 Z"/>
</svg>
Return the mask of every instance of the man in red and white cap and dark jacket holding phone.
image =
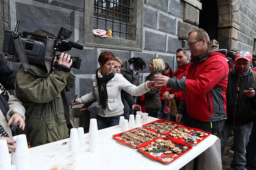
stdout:
<svg viewBox="0 0 256 170">
<path fill-rule="evenodd" d="M 221 133 L 221 151 L 223 157 L 225 143 L 233 130 L 234 157 L 230 165 L 231 169 L 244 169 L 245 147 L 255 118 L 251 106 L 251 101 L 256 99 L 251 64 L 252 54 L 240 51 L 236 53 L 235 67 L 232 67 L 228 74 L 226 93 L 228 118 Z"/>
</svg>

